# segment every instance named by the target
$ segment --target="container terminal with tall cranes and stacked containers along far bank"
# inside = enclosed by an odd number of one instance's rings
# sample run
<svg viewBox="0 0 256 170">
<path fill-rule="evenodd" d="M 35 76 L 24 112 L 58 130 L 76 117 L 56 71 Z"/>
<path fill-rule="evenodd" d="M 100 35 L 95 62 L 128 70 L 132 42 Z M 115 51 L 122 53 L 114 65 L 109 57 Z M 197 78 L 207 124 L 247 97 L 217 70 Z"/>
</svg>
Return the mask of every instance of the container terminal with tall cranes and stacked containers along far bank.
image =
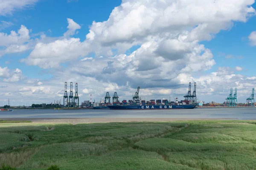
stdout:
<svg viewBox="0 0 256 170">
<path fill-rule="evenodd" d="M 203 103 L 198 102 L 196 96 L 196 82 L 194 82 L 194 89 L 191 90 L 191 82 L 189 82 L 188 92 L 183 96 L 184 99 L 178 101 L 178 98 L 175 98 L 175 101 L 168 99 L 150 99 L 149 101 L 142 100 L 139 97 L 140 87 L 137 88 L 137 91 L 133 95 L 132 99 L 119 100 L 117 92 L 114 92 L 113 97 L 110 96 L 109 92 L 105 95 L 105 100 L 101 99 L 100 102 L 92 102 L 92 96 L 90 94 L 90 101 L 84 101 L 79 105 L 79 95 L 78 95 L 78 83 L 76 83 L 76 92 L 73 96 L 73 82 L 70 82 L 70 94 L 67 94 L 67 82 L 65 82 L 65 92 L 63 96 L 63 105 L 62 108 L 94 108 L 94 109 L 109 109 L 109 106 L 154 106 L 154 108 L 160 108 L 160 105 L 166 106 L 185 106 L 191 105 L 197 108 L 204 107 L 254 107 L 254 88 L 252 94 L 246 99 L 246 104 L 238 102 L 237 88 L 230 89 L 230 94 L 225 98 L 223 104 L 220 103 Z M 111 100 L 112 98 L 112 100 Z M 117 107 L 116 107 L 117 108 Z M 127 108 L 127 107 L 126 107 Z M 143 108 L 143 107 L 142 107 Z M 145 107 L 144 107 L 145 108 Z M 148 108 L 148 107 L 147 107 Z M 163 107 L 162 107 L 163 108 Z M 169 108 L 169 107 L 168 107 Z M 172 107 L 173 108 L 173 107 Z M 175 108 L 175 107 L 174 107 Z"/>
</svg>

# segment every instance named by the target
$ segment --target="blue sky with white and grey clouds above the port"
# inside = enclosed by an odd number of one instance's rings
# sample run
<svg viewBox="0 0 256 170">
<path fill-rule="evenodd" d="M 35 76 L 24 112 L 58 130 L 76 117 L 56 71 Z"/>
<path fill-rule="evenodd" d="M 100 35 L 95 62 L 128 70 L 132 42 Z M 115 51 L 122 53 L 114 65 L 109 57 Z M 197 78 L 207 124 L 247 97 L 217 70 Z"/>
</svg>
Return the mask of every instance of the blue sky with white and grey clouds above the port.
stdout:
<svg viewBox="0 0 256 170">
<path fill-rule="evenodd" d="M 1 0 L 0 106 L 132 99 L 238 102 L 256 87 L 254 0 Z M 193 88 L 193 87 L 192 87 Z"/>
</svg>

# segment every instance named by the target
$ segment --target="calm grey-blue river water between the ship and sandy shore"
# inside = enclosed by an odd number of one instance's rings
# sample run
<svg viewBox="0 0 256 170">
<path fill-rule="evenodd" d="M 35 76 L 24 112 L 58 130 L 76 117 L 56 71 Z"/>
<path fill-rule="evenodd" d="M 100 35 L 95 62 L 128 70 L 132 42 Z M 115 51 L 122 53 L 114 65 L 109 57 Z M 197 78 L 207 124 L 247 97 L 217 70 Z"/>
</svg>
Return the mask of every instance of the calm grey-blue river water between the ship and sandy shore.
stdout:
<svg viewBox="0 0 256 170">
<path fill-rule="evenodd" d="M 195 108 L 188 110 L 13 110 L 0 118 L 189 118 L 256 119 L 256 108 Z"/>
</svg>

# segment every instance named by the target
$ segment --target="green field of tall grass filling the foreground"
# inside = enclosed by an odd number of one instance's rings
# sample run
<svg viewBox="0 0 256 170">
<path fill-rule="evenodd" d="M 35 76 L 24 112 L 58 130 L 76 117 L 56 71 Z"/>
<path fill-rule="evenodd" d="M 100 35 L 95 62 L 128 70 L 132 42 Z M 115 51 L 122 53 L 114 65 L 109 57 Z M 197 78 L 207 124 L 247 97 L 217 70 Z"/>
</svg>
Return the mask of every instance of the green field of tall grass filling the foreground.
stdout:
<svg viewBox="0 0 256 170">
<path fill-rule="evenodd" d="M 0 123 L 0 167 L 252 170 L 256 122 Z M 1 168 L 0 168 L 1 170 Z"/>
</svg>

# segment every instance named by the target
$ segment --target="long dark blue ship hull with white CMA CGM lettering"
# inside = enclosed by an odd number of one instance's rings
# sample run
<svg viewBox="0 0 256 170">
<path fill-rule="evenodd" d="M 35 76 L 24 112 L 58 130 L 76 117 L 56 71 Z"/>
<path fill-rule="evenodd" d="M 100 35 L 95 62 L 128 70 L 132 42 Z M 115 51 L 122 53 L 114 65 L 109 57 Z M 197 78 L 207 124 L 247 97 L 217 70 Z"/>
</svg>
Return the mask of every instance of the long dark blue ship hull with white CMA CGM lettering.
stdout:
<svg viewBox="0 0 256 170">
<path fill-rule="evenodd" d="M 195 105 L 109 105 L 110 109 L 129 110 L 129 109 L 193 109 Z"/>
</svg>

